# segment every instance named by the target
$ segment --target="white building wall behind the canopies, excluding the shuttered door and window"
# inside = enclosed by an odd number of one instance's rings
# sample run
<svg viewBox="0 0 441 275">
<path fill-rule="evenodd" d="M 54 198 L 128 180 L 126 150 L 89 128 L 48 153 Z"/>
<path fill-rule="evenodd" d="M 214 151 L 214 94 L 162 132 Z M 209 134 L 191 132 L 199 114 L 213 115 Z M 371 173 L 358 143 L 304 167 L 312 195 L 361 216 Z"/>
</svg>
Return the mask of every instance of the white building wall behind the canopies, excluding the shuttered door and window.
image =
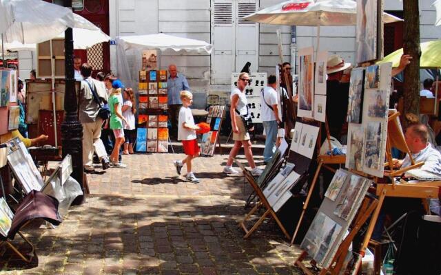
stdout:
<svg viewBox="0 0 441 275">
<path fill-rule="evenodd" d="M 110 36 L 154 34 L 164 32 L 210 43 L 210 0 L 109 0 Z M 260 10 L 281 0 L 260 0 Z M 440 39 L 441 27 L 433 26 L 435 8 L 433 0 L 420 0 L 421 41 Z M 402 0 L 384 1 L 384 10 L 402 10 Z M 291 61 L 291 28 L 289 26 L 260 24 L 259 71 L 274 73 L 278 64 L 276 30 L 282 32 L 283 61 Z M 297 27 L 296 49 L 316 45 L 316 27 Z M 321 27 L 320 50 L 339 54 L 347 62 L 355 61 L 355 26 Z M 294 51 L 295 52 L 295 51 Z M 116 50 L 110 47 L 112 71 L 116 72 Z M 129 56 L 131 62 L 141 62 L 141 56 Z M 163 53 L 159 65 L 166 68 L 176 63 L 189 79 L 194 91 L 229 89 L 210 86 L 212 61 L 207 54 Z M 136 71 L 134 71 L 136 74 Z"/>
</svg>

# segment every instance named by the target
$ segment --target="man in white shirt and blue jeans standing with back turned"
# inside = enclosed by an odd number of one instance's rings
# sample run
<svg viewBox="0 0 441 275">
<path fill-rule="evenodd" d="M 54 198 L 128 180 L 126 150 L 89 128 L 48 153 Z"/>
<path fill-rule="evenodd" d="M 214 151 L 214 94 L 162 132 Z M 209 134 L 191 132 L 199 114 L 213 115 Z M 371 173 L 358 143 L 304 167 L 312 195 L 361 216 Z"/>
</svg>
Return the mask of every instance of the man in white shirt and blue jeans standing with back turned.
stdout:
<svg viewBox="0 0 441 275">
<path fill-rule="evenodd" d="M 272 155 L 276 151 L 278 124 L 281 122 L 278 117 L 276 87 L 276 76 L 271 74 L 268 76 L 267 87 L 260 91 L 260 113 L 262 115 L 263 128 L 267 135 L 265 150 L 263 151 L 263 161 L 265 163 L 271 160 Z"/>
</svg>

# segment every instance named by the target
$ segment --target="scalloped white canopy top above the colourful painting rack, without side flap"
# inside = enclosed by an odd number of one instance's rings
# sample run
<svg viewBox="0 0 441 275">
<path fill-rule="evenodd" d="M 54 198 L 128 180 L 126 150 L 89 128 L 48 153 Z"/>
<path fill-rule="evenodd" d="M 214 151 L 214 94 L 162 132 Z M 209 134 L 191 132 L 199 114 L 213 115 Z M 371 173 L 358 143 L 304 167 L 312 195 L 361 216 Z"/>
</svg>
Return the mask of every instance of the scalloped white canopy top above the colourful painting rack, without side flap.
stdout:
<svg viewBox="0 0 441 275">
<path fill-rule="evenodd" d="M 186 39 L 183 37 L 168 34 L 145 34 L 134 36 L 119 36 L 116 43 L 123 45 L 124 50 L 138 48 L 141 50 L 173 50 L 179 52 L 199 52 L 210 54 L 212 45 L 196 39 Z"/>
</svg>

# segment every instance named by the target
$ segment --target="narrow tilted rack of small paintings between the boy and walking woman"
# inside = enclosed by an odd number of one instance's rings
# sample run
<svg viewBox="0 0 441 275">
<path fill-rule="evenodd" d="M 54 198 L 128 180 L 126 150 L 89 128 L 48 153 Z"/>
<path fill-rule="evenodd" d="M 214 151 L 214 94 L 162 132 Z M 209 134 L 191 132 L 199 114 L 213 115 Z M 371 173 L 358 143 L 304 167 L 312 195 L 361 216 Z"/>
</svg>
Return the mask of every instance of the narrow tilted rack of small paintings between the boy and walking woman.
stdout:
<svg viewBox="0 0 441 275">
<path fill-rule="evenodd" d="M 209 124 L 209 132 L 204 133 L 201 138 L 201 155 L 212 157 L 214 148 L 219 140 L 219 131 L 222 126 L 223 117 L 225 115 L 225 106 L 212 105 L 209 107 L 207 115 L 207 124 Z M 220 147 L 220 144 L 219 144 Z"/>
</svg>

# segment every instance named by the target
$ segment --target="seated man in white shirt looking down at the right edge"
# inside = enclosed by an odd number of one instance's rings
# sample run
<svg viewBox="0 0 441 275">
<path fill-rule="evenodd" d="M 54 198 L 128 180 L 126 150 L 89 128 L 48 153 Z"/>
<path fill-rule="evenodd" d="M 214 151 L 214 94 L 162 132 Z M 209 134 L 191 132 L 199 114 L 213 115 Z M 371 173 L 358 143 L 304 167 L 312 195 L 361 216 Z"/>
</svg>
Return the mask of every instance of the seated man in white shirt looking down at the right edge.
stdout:
<svg viewBox="0 0 441 275">
<path fill-rule="evenodd" d="M 407 128 L 404 134 L 409 151 L 416 163 L 424 162 L 423 166 L 416 169 L 421 169 L 429 173 L 441 176 L 441 153 L 438 152 L 427 141 L 429 131 L 424 124 L 412 124 Z M 411 165 L 409 155 L 406 155 L 402 160 L 396 160 L 397 168 L 404 168 Z M 440 200 L 431 199 L 430 209 L 435 214 L 439 213 Z M 404 225 L 401 230 L 398 230 L 394 241 L 398 247 L 398 253 L 394 262 L 394 272 L 396 274 L 419 274 L 418 267 L 413 267 L 413 263 L 409 261 L 415 258 L 415 253 L 422 253 L 418 231 L 421 225 L 421 217 L 424 212 L 422 207 L 422 199 L 400 198 L 400 197 L 386 197 L 378 216 L 376 227 L 374 229 L 372 239 L 380 240 L 383 231 L 384 220 L 386 215 L 391 218 L 391 221 L 396 221 L 403 214 L 407 213 Z M 417 270 L 413 270 L 416 268 Z M 416 272 L 416 273 L 415 273 Z"/>
</svg>

